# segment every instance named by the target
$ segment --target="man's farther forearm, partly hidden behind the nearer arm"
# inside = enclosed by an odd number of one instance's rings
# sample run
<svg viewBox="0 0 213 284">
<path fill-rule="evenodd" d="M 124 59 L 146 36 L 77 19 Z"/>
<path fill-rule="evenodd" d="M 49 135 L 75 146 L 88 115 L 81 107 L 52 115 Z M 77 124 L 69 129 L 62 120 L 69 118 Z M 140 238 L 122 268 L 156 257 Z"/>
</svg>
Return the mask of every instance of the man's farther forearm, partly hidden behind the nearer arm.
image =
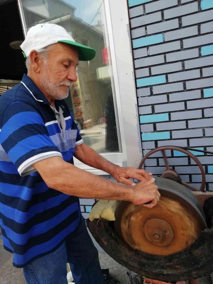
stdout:
<svg viewBox="0 0 213 284">
<path fill-rule="evenodd" d="M 77 146 L 75 148 L 74 156 L 82 163 L 89 165 L 90 167 L 103 170 L 104 172 L 107 172 L 110 175 L 113 175 L 116 168 L 119 167 L 103 158 L 101 155 L 96 153 L 92 148 L 90 148 L 86 144 Z"/>
</svg>

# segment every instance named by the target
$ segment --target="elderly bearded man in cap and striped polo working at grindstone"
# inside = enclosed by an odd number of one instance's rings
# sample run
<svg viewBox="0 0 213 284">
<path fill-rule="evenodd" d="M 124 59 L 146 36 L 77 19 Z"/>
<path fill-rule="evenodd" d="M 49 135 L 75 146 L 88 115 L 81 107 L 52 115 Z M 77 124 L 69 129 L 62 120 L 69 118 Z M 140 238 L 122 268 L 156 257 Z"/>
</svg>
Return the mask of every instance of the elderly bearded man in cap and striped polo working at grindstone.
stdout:
<svg viewBox="0 0 213 284">
<path fill-rule="evenodd" d="M 79 197 L 129 200 L 152 207 L 160 194 L 151 174 L 111 164 L 83 143 L 66 103 L 79 60 L 95 51 L 64 28 L 39 24 L 21 45 L 28 74 L 0 99 L 0 225 L 13 265 L 27 284 L 103 284 L 97 249 Z M 112 175 L 104 180 L 73 165 L 73 156 Z M 135 185 L 129 178 L 141 180 Z"/>
</svg>

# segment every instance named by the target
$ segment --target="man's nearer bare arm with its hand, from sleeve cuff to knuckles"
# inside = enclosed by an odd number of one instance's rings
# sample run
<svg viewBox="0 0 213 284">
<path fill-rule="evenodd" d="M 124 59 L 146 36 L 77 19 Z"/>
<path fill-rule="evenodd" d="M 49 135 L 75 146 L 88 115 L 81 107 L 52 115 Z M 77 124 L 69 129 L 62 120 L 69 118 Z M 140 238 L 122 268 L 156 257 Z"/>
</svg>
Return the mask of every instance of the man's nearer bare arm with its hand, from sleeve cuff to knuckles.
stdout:
<svg viewBox="0 0 213 284">
<path fill-rule="evenodd" d="M 158 187 L 143 178 L 135 186 L 121 185 L 81 170 L 61 157 L 52 157 L 33 164 L 48 187 L 67 195 L 92 199 L 126 200 L 134 204 L 159 200 Z M 145 205 L 148 206 L 148 205 Z"/>
</svg>

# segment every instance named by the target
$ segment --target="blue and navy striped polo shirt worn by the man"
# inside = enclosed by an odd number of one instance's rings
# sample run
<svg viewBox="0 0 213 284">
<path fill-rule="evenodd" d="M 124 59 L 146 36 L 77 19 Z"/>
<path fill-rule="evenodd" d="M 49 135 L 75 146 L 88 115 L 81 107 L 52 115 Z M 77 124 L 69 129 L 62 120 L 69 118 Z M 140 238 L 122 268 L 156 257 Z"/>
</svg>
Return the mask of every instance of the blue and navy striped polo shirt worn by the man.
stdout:
<svg viewBox="0 0 213 284">
<path fill-rule="evenodd" d="M 15 267 L 55 250 L 81 217 L 78 197 L 49 188 L 33 167 L 54 156 L 73 164 L 83 143 L 67 104 L 55 107 L 27 75 L 0 97 L 0 226 Z"/>
</svg>

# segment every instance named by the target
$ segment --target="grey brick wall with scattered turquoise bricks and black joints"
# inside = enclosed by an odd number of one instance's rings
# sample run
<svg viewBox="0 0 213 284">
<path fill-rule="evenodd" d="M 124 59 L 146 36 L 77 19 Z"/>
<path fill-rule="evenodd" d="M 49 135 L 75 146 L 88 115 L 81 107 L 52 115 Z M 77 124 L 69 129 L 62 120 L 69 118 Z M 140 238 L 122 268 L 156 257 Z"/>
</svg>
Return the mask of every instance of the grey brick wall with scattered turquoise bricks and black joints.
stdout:
<svg viewBox="0 0 213 284">
<path fill-rule="evenodd" d="M 213 0 L 128 0 L 143 154 L 165 146 L 213 151 Z M 165 170 L 160 152 L 146 170 Z M 213 156 L 194 151 L 213 190 Z M 194 162 L 167 151 L 170 166 L 200 187 Z"/>
</svg>

